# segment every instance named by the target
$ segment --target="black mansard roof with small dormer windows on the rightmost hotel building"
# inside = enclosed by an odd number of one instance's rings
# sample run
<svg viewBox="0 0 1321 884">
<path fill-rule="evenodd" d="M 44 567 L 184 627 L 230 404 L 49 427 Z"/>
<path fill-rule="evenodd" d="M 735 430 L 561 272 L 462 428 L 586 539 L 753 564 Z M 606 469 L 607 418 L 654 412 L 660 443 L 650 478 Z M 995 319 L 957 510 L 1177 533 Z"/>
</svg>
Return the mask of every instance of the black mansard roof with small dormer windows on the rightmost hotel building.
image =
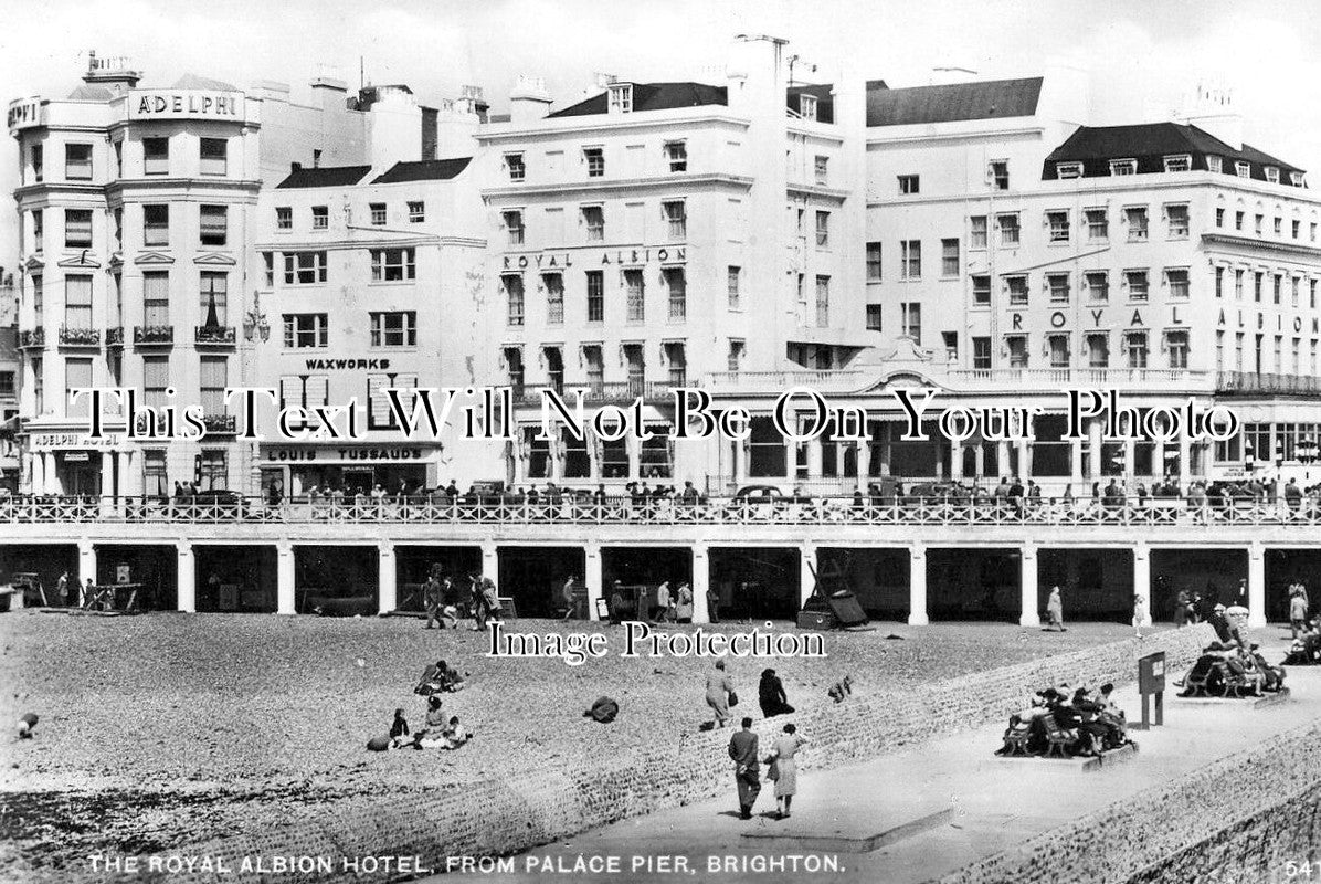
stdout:
<svg viewBox="0 0 1321 884">
<path fill-rule="evenodd" d="M 1194 170 L 1206 170 L 1206 157 L 1223 157 L 1221 170 L 1236 174 L 1235 163 L 1247 163 L 1251 177 L 1266 181 L 1266 166 L 1280 169 L 1280 180 L 1289 182 L 1291 172 L 1303 169 L 1276 160 L 1268 153 L 1244 144 L 1235 149 L 1214 135 L 1196 126 L 1182 123 L 1137 123 L 1135 126 L 1082 126 L 1063 144 L 1046 157 L 1041 177 L 1045 181 L 1058 178 L 1059 163 L 1082 163 L 1085 178 L 1110 177 L 1111 160 L 1137 160 L 1137 174 L 1164 172 L 1165 157 L 1190 155 Z"/>
</svg>

